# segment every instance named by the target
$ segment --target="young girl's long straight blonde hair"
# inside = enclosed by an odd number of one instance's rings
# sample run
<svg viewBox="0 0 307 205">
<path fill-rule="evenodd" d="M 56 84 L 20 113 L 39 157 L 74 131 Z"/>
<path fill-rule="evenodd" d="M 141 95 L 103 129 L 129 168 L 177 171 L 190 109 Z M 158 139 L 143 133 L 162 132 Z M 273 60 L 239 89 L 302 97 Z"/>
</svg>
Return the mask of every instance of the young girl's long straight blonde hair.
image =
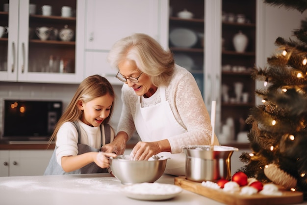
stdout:
<svg viewBox="0 0 307 205">
<path fill-rule="evenodd" d="M 73 122 L 82 117 L 83 112 L 77 106 L 79 100 L 82 100 L 86 103 L 93 100 L 94 98 L 101 97 L 106 94 L 109 94 L 115 100 L 115 93 L 113 87 L 108 82 L 108 80 L 106 80 L 100 75 L 92 75 L 85 78 L 77 88 L 73 99 L 65 109 L 63 115 L 56 123 L 54 131 L 50 138 L 50 143 L 56 140 L 57 132 L 64 122 Z M 108 123 L 111 118 L 114 107 L 114 100 L 110 109 L 110 115 L 103 120 L 103 124 Z"/>
</svg>

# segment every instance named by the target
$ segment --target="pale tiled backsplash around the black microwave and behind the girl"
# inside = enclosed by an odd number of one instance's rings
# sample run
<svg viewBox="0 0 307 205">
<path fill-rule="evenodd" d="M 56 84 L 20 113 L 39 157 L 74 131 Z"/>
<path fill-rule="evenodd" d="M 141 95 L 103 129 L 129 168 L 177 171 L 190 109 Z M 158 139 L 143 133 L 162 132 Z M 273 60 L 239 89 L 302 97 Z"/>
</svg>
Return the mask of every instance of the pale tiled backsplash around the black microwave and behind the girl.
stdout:
<svg viewBox="0 0 307 205">
<path fill-rule="evenodd" d="M 35 100 L 61 100 L 63 110 L 67 107 L 77 90 L 78 85 L 72 84 L 37 84 L 37 83 L 10 83 L 0 82 L 0 134 L 3 126 L 3 100 L 4 99 L 35 99 Z M 113 86 L 116 101 L 111 117 L 111 126 L 116 130 L 122 110 L 121 86 Z M 16 125 L 18 127 L 18 125 Z M 133 138 L 137 138 L 133 136 Z"/>
</svg>

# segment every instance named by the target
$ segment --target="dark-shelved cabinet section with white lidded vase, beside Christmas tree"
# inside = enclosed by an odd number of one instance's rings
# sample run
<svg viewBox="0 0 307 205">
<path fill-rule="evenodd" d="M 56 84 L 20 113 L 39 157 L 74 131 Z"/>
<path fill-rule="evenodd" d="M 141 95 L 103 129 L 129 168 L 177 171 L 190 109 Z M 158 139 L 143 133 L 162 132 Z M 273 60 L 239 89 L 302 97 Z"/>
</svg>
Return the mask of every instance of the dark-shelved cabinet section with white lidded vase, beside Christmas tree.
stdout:
<svg viewBox="0 0 307 205">
<path fill-rule="evenodd" d="M 235 45 L 244 43 L 243 36 L 248 39 L 247 47 L 238 50 Z M 222 0 L 221 53 L 221 119 L 223 126 L 233 119 L 235 135 L 231 140 L 237 140 L 238 133 L 251 128 L 245 119 L 255 106 L 256 84 L 251 68 L 256 64 L 256 0 Z"/>
</svg>

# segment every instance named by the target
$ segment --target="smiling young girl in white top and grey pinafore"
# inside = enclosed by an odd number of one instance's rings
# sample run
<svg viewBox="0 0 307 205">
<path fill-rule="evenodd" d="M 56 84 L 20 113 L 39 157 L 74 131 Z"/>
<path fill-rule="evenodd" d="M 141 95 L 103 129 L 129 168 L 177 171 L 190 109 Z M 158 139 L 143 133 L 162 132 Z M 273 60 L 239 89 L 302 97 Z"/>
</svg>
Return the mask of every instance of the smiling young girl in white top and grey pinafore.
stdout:
<svg viewBox="0 0 307 205">
<path fill-rule="evenodd" d="M 102 145 L 114 139 L 110 120 L 114 90 L 100 75 L 82 81 L 58 120 L 50 141 L 54 152 L 44 175 L 107 173 L 107 157 L 115 153 L 101 152 Z"/>
</svg>

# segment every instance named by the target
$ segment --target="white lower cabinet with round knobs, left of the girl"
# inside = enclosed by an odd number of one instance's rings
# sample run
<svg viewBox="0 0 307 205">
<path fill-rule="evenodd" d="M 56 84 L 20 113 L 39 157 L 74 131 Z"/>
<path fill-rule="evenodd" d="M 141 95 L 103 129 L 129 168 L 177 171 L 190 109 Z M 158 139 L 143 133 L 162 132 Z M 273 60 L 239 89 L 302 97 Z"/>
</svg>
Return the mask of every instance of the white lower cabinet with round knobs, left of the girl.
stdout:
<svg viewBox="0 0 307 205">
<path fill-rule="evenodd" d="M 53 150 L 0 150 L 0 176 L 43 175 Z"/>
</svg>

